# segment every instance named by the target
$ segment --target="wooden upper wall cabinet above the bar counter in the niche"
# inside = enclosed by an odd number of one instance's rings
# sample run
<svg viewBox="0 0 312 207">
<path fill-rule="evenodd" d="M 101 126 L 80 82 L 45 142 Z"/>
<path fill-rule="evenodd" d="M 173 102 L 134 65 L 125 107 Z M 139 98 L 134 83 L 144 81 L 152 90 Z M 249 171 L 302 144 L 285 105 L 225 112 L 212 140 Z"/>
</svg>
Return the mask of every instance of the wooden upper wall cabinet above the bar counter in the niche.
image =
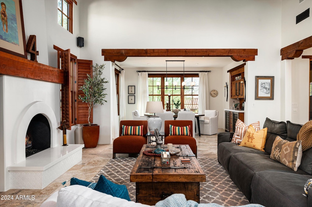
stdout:
<svg viewBox="0 0 312 207">
<path fill-rule="evenodd" d="M 245 97 L 244 66 L 230 72 L 231 98 Z"/>
</svg>

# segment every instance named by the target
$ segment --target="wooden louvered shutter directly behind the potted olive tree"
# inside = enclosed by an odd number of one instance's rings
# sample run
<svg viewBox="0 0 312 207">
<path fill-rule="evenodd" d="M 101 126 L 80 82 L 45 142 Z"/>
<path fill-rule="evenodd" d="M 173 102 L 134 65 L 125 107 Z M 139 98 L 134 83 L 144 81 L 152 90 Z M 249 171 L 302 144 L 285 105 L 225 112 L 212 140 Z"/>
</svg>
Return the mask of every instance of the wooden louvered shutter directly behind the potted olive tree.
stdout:
<svg viewBox="0 0 312 207">
<path fill-rule="evenodd" d="M 87 74 L 91 74 L 92 78 L 92 60 L 76 60 L 76 124 L 88 124 L 88 104 L 82 102 L 78 96 L 85 96 L 83 91 L 79 90 L 87 78 Z M 91 110 L 90 122 L 93 121 L 93 112 Z"/>
</svg>

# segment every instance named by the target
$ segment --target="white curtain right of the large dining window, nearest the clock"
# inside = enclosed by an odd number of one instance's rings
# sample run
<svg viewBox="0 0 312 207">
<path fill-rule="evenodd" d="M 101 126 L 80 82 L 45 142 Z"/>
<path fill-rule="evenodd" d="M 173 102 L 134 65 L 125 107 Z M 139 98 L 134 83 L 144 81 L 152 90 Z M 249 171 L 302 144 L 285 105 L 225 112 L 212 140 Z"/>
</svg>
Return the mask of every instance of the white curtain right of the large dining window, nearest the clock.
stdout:
<svg viewBox="0 0 312 207">
<path fill-rule="evenodd" d="M 198 113 L 204 114 L 205 110 L 209 110 L 208 73 L 199 72 Z"/>
</svg>

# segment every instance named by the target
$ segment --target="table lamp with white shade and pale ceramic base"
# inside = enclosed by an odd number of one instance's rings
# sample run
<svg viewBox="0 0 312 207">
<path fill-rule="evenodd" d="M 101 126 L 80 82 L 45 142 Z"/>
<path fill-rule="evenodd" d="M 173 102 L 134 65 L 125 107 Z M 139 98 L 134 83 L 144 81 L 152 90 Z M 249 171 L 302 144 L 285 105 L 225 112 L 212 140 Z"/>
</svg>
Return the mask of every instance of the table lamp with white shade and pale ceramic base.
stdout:
<svg viewBox="0 0 312 207">
<path fill-rule="evenodd" d="M 155 131 L 156 128 L 160 130 L 161 119 L 156 116 L 155 113 L 163 113 L 163 102 L 162 101 L 148 101 L 146 102 L 145 113 L 154 113 L 154 115 L 149 117 L 148 127 L 150 131 Z"/>
</svg>

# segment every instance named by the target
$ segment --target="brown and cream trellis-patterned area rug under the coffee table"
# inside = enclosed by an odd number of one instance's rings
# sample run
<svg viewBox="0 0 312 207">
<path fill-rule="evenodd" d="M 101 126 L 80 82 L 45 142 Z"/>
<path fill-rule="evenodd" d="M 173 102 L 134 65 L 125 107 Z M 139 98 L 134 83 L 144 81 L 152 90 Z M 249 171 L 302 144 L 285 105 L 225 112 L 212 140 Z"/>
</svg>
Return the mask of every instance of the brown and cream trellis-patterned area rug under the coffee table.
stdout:
<svg viewBox="0 0 312 207">
<path fill-rule="evenodd" d="M 104 175 L 114 183 L 126 185 L 130 199 L 135 201 L 135 183 L 129 179 L 135 161 L 136 158 L 111 159 L 91 182 L 97 182 L 100 175 Z M 217 203 L 223 206 L 249 204 L 216 159 L 199 158 L 198 162 L 206 173 L 206 182 L 200 183 L 200 203 Z"/>
</svg>

